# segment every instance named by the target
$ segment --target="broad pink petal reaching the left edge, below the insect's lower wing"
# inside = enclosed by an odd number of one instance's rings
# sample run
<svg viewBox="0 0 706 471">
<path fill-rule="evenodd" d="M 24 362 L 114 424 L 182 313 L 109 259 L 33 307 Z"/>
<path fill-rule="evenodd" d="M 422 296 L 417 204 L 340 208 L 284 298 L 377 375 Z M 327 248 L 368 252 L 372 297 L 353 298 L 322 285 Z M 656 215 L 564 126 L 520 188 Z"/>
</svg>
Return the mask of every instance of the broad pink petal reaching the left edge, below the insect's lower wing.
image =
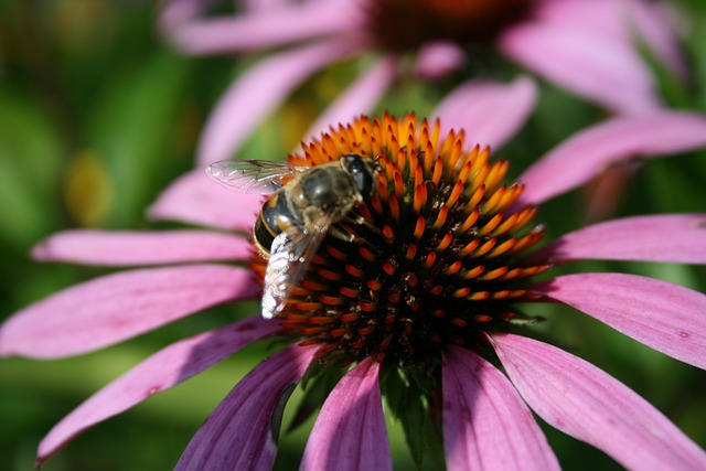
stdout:
<svg viewBox="0 0 706 471">
<path fill-rule="evenodd" d="M 194 265 L 130 270 L 76 285 L 8 319 L 0 354 L 54 358 L 100 349 L 225 301 L 253 299 L 249 270 Z"/>
</svg>

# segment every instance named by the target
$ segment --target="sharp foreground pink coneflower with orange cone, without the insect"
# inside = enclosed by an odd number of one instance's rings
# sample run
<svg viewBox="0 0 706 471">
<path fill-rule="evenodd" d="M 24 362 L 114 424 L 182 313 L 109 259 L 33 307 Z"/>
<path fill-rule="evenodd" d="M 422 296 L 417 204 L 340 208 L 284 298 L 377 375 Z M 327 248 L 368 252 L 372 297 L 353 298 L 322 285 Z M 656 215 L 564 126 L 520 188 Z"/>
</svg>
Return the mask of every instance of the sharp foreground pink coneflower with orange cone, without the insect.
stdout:
<svg viewBox="0 0 706 471">
<path fill-rule="evenodd" d="M 471 101 L 466 110 L 474 106 L 481 105 Z M 522 122 L 512 103 L 482 106 L 506 116 L 507 126 Z M 470 130 L 482 122 L 473 121 L 482 116 L 477 111 L 469 111 Z M 461 121 L 460 110 L 449 116 Z M 493 129 L 495 136 L 513 130 Z M 233 388 L 178 469 L 271 468 L 281 409 L 307 372 L 308 381 L 340 381 L 321 406 L 302 469 L 391 469 L 381 398 L 393 404 L 400 387 L 424 398 L 415 403 L 424 413 L 438 411 L 449 469 L 557 469 L 532 411 L 628 469 L 706 468 L 704 450 L 646 400 L 586 361 L 532 339 L 520 304 L 570 306 L 706 368 L 703 293 L 628 274 L 549 276 L 553 266 L 579 259 L 704 264 L 705 214 L 614 220 L 542 247 L 544 229 L 534 222 L 538 205 L 613 163 L 706 146 L 706 118 L 663 111 L 608 120 L 570 137 L 525 170 L 520 183 L 506 185 L 507 163 L 491 162 L 488 148 L 469 144 L 469 136 L 442 131 L 438 121 L 385 115 L 304 143 L 290 161 L 318 164 L 349 152 L 377 160 L 377 196 L 355 208 L 366 224 L 340 226 L 355 233 L 354 240 L 329 236 L 275 320 L 254 315 L 169 345 L 96 393 L 50 431 L 39 460 L 93 425 L 275 335 L 288 346 Z M 192 173 L 160 197 L 151 215 L 249 231 L 260 203 Z M 210 231 L 66 232 L 40 244 L 34 256 L 175 265 L 108 275 L 25 308 L 0 328 L 3 355 L 79 354 L 207 306 L 252 299 L 265 269 L 245 238 Z M 225 264 L 244 259 L 257 276 Z"/>
</svg>

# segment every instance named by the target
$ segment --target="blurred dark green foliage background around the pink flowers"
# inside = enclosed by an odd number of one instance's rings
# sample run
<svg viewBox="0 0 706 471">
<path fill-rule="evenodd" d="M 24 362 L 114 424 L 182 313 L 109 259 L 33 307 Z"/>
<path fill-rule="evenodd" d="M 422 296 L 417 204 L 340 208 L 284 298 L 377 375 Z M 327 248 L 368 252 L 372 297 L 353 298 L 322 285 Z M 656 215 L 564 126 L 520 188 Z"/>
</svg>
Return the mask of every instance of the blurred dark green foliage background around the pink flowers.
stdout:
<svg viewBox="0 0 706 471">
<path fill-rule="evenodd" d="M 659 74 L 663 94 L 674 107 L 706 113 L 706 3 L 675 4 L 694 23 L 684 36 L 694 76 L 680 85 Z M 156 14 L 153 2 L 138 0 L 0 2 L 0 319 L 108 271 L 33 263 L 28 253 L 41 238 L 76 227 L 170 227 L 148 223 L 145 210 L 170 181 L 193 168 L 194 146 L 208 110 L 253 57 L 180 56 L 157 34 Z M 336 65 L 308 81 L 254 133 L 243 157 L 282 158 L 355 66 Z M 405 83 L 381 109 L 424 115 L 440 96 L 438 89 Z M 499 156 L 510 159 L 517 174 L 602 117 L 590 105 L 543 85 L 528 126 Z M 617 215 L 704 212 L 704 182 L 706 152 L 650 162 L 625 189 Z M 584 194 L 574 192 L 543 208 L 550 236 L 584 223 L 582 203 Z M 566 205 L 575 211 L 567 213 Z M 637 272 L 706 291 L 703 267 L 591 263 L 567 268 L 581 269 Z M 213 309 L 76 358 L 0 360 L 0 470 L 32 469 L 36 445 L 58 419 L 150 353 L 254 312 L 256 304 Z M 549 320 L 539 328 L 544 333 L 634 388 L 706 447 L 704 372 L 568 309 L 536 313 Z M 170 469 L 213 407 L 261 357 L 263 346 L 246 349 L 95 427 L 44 469 Z M 278 468 L 296 468 L 310 426 L 282 436 Z M 396 463 L 405 469 L 409 461 L 399 425 L 388 427 Z M 620 469 L 590 447 L 548 428 L 547 435 L 566 469 Z"/>
</svg>

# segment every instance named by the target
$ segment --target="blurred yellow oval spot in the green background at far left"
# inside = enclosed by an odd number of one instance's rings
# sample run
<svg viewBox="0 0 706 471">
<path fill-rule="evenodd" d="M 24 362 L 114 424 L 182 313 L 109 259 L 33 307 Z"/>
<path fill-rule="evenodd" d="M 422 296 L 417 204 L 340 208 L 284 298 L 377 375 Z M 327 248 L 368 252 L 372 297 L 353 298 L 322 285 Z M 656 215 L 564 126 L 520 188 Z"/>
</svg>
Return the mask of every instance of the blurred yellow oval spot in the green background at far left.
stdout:
<svg viewBox="0 0 706 471">
<path fill-rule="evenodd" d="M 113 205 L 115 189 L 110 176 L 95 152 L 78 152 L 68 163 L 64 183 L 66 207 L 82 226 L 96 226 L 106 218 Z"/>
</svg>

